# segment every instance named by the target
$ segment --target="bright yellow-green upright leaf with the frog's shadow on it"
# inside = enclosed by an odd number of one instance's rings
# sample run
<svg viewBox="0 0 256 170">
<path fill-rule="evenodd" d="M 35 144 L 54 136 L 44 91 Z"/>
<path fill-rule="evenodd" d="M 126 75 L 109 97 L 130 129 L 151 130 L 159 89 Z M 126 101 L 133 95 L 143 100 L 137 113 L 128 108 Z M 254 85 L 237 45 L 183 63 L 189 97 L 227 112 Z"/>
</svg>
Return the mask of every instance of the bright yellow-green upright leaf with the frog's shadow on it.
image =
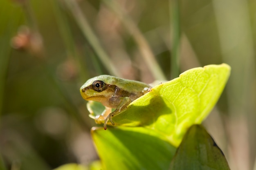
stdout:
<svg viewBox="0 0 256 170">
<path fill-rule="evenodd" d="M 210 113 L 229 74 L 227 64 L 192 68 L 151 88 L 112 120 L 115 126 L 144 126 L 155 130 L 178 146 L 186 130 L 200 124 Z"/>
</svg>

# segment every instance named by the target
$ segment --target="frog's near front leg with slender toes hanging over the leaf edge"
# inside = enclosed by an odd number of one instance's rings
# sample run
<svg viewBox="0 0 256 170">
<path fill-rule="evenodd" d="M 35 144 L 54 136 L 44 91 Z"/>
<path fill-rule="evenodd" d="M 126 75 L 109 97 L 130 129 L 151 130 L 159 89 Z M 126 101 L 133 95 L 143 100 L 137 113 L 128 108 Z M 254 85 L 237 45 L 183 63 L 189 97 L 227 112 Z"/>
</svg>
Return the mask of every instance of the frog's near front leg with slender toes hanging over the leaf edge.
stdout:
<svg viewBox="0 0 256 170">
<path fill-rule="evenodd" d="M 112 121 L 112 117 L 119 114 L 121 111 L 123 111 L 124 109 L 126 109 L 126 107 L 130 104 L 131 99 L 129 97 L 124 97 L 121 101 L 121 103 L 119 104 L 119 106 L 117 106 L 116 110 L 113 111 L 112 113 L 110 113 L 108 115 L 108 117 L 106 117 L 105 119 L 105 123 L 104 123 L 104 129 L 107 129 L 107 123 L 108 120 L 111 122 L 111 124 L 114 126 L 115 123 L 114 121 Z"/>
</svg>

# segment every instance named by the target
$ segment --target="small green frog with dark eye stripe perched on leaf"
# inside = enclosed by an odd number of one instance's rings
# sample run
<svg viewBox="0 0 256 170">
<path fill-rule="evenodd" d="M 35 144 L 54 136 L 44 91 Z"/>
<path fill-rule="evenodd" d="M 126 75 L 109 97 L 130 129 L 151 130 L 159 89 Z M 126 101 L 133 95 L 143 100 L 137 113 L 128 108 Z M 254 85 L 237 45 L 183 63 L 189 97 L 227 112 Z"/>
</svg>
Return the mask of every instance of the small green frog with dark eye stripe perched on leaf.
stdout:
<svg viewBox="0 0 256 170">
<path fill-rule="evenodd" d="M 150 86 L 142 82 L 100 75 L 88 79 L 80 88 L 80 93 L 85 100 L 101 102 L 105 107 L 116 108 L 112 113 L 106 112 L 101 115 L 101 119 L 105 119 L 106 130 L 108 119 L 112 125 L 115 125 L 111 117 L 126 109 L 130 102 L 147 93 L 148 88 Z"/>
</svg>

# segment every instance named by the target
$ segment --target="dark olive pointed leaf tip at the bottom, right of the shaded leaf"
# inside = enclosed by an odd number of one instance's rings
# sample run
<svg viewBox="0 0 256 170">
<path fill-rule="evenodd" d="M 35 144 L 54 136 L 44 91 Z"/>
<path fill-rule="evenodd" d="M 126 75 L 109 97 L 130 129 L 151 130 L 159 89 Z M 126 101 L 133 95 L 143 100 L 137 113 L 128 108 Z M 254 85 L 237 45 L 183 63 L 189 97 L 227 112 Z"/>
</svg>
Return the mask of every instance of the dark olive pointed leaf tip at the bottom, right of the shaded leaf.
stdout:
<svg viewBox="0 0 256 170">
<path fill-rule="evenodd" d="M 184 135 L 170 170 L 230 170 L 227 160 L 201 125 L 193 125 Z"/>
</svg>

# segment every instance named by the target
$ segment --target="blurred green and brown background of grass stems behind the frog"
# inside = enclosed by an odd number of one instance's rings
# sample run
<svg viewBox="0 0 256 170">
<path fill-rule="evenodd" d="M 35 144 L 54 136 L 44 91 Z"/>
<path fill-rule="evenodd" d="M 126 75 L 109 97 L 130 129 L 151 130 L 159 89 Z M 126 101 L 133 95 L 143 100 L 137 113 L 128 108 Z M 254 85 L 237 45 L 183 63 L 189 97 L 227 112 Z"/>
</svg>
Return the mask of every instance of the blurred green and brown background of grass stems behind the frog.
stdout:
<svg viewBox="0 0 256 170">
<path fill-rule="evenodd" d="M 98 159 L 88 78 L 151 83 L 223 62 L 231 77 L 204 126 L 232 170 L 256 170 L 255 0 L 0 2 L 0 170 Z"/>
</svg>

